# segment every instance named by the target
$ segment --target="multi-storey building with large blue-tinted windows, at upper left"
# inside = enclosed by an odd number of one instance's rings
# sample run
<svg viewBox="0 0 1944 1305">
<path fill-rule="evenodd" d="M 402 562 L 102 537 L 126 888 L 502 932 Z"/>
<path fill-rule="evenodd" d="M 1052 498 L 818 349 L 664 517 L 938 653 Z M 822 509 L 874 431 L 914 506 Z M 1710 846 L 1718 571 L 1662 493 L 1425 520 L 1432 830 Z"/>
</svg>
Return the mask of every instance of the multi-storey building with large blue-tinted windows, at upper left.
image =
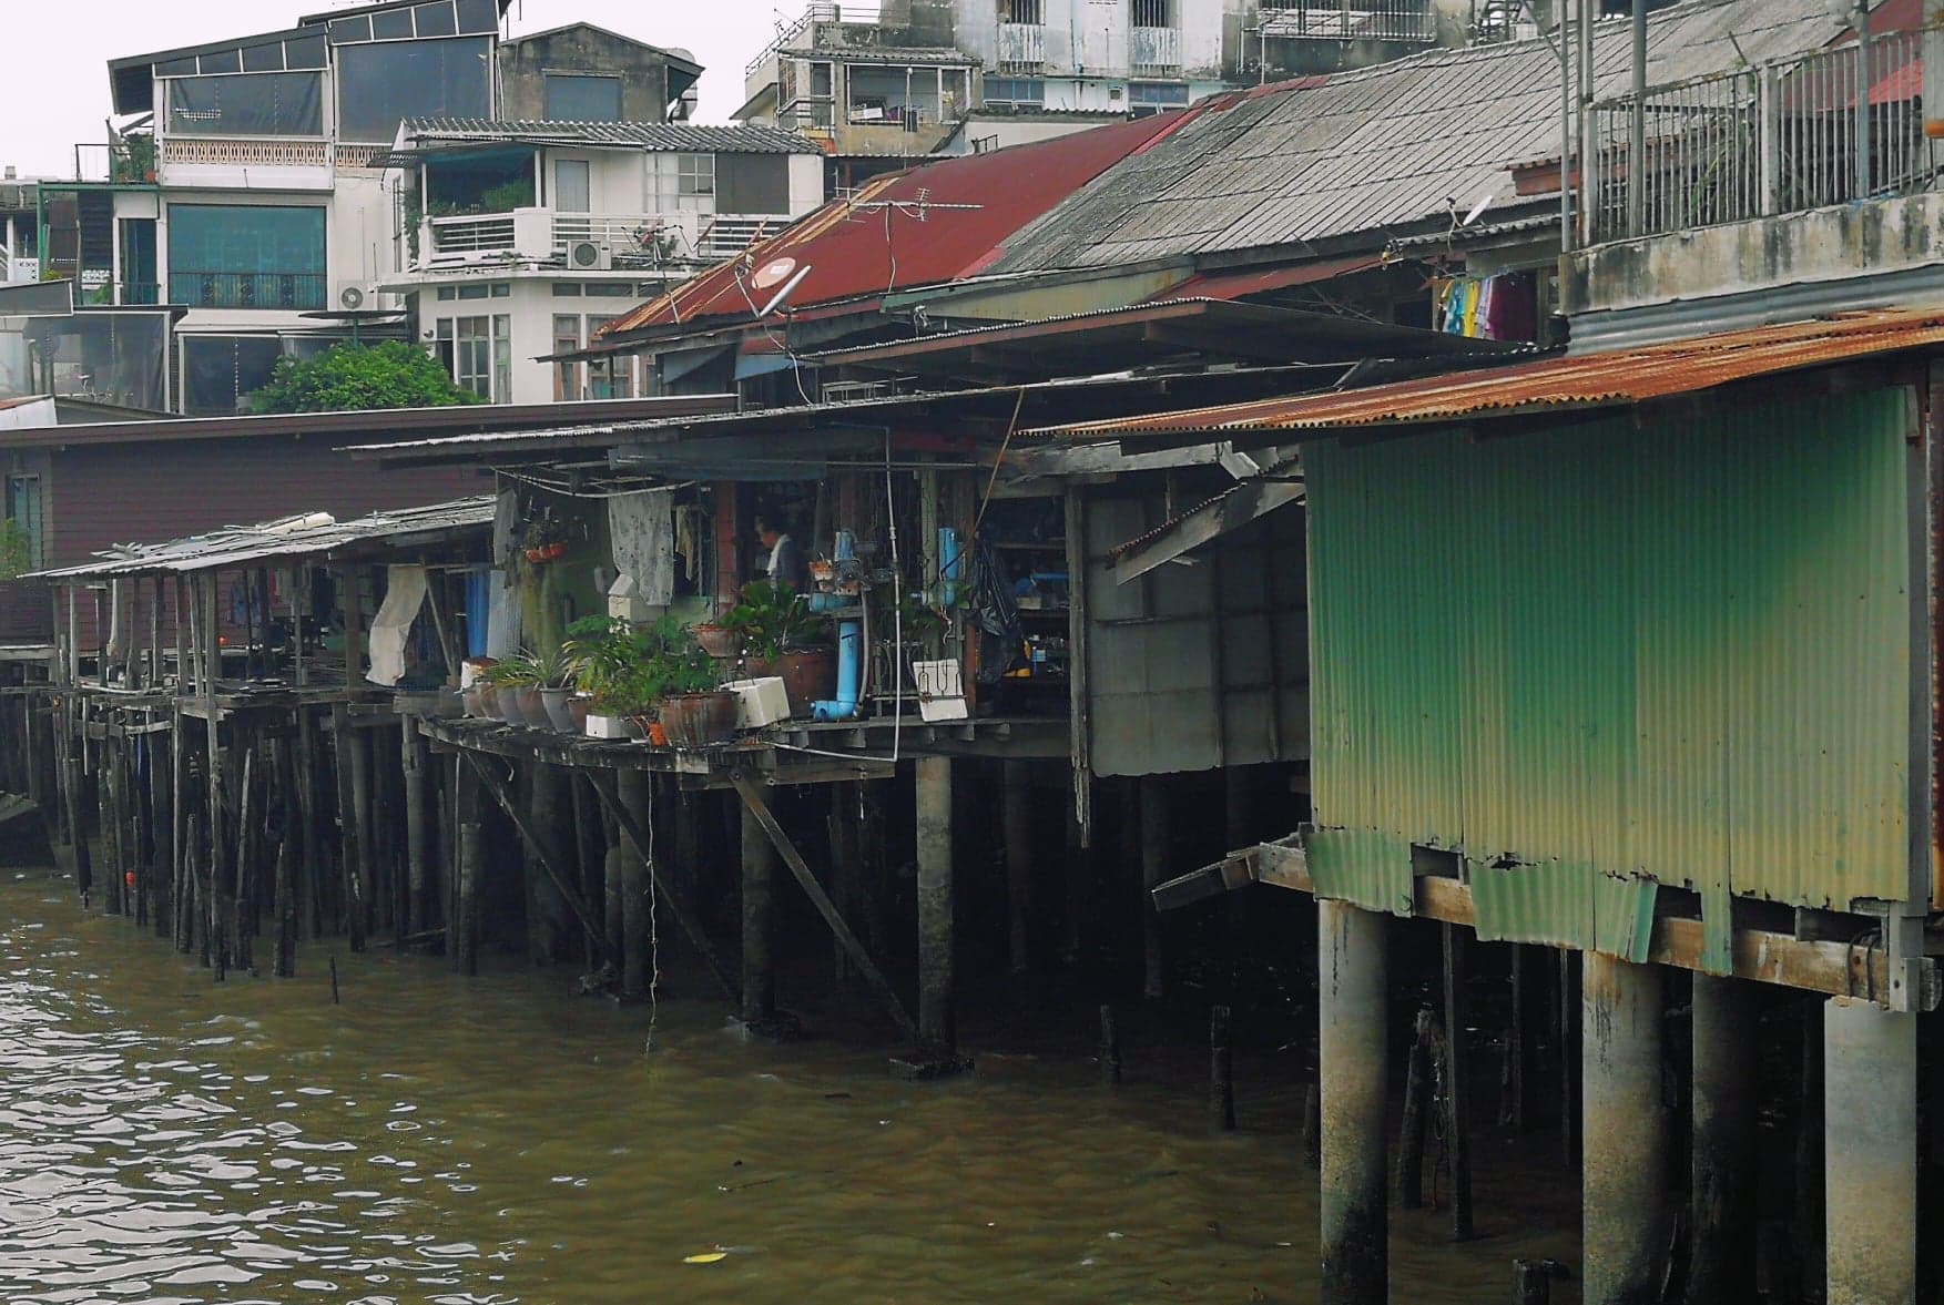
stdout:
<svg viewBox="0 0 1944 1305">
<path fill-rule="evenodd" d="M 387 167 L 408 119 L 659 124 L 686 117 L 702 72 L 585 23 L 507 39 L 507 8 L 387 0 L 113 60 L 117 121 L 140 126 L 78 165 L 91 181 L 41 185 L 43 274 L 91 303 L 187 309 L 169 391 L 189 414 L 243 408 L 286 354 L 422 336 L 379 290 L 410 268 L 420 218 L 414 179 Z M 507 373 L 490 397 L 515 397 Z"/>
</svg>

